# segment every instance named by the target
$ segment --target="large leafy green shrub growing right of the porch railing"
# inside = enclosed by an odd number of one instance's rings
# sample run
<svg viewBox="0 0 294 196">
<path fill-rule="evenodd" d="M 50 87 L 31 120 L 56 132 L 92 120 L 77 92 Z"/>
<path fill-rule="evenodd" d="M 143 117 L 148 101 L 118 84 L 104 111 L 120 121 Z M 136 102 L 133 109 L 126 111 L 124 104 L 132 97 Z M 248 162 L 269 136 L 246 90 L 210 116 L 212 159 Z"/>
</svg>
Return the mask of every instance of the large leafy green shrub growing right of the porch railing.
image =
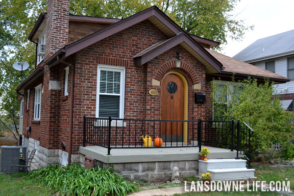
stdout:
<svg viewBox="0 0 294 196">
<path fill-rule="evenodd" d="M 234 86 L 229 82 L 222 85 L 212 82 L 212 88 L 215 119 L 240 120 L 254 130 L 251 139 L 253 155 L 269 153 L 272 144 L 289 145 L 294 115 L 282 109 L 277 95 L 272 96 L 275 88 L 268 79 L 259 84 L 256 79 L 248 78 Z"/>
</svg>

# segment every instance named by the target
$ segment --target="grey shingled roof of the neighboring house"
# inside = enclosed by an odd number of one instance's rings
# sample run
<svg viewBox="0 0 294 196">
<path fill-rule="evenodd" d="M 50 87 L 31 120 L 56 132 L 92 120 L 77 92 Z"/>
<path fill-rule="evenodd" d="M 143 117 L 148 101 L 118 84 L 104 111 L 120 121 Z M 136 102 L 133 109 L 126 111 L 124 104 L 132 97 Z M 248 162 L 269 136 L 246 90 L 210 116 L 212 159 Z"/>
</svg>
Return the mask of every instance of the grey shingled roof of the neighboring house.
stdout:
<svg viewBox="0 0 294 196">
<path fill-rule="evenodd" d="M 294 30 L 256 40 L 233 56 L 245 62 L 254 62 L 276 55 L 294 53 Z"/>
</svg>

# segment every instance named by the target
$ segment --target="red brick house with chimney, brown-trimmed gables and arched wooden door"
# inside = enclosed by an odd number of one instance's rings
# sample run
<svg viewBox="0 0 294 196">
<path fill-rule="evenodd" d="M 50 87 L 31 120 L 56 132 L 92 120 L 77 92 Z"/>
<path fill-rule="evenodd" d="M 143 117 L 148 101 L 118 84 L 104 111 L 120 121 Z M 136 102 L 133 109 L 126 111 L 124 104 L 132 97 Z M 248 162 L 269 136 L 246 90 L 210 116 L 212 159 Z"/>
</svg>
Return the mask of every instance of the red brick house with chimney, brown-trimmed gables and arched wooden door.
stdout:
<svg viewBox="0 0 294 196">
<path fill-rule="evenodd" d="M 24 97 L 24 145 L 37 149 L 33 169 L 83 162 L 84 116 L 212 120 L 214 78 L 289 81 L 211 50 L 220 43 L 186 33 L 155 6 L 120 20 L 70 15 L 69 4 L 48 1 L 28 37 L 35 71 L 16 89 Z M 205 102 L 196 103 L 195 93 Z M 191 142 L 184 129 L 174 138 Z M 173 141 L 174 131 L 162 135 Z"/>
</svg>

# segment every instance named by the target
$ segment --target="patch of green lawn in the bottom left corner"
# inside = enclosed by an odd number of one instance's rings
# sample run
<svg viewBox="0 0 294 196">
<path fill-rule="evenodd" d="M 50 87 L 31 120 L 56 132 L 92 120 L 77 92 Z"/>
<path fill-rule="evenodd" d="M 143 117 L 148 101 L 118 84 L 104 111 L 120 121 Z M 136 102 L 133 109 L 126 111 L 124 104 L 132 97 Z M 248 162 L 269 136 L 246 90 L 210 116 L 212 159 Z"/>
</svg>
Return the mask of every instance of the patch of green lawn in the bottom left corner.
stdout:
<svg viewBox="0 0 294 196">
<path fill-rule="evenodd" d="M 50 191 L 25 179 L 26 173 L 0 174 L 0 196 L 48 196 Z"/>
</svg>

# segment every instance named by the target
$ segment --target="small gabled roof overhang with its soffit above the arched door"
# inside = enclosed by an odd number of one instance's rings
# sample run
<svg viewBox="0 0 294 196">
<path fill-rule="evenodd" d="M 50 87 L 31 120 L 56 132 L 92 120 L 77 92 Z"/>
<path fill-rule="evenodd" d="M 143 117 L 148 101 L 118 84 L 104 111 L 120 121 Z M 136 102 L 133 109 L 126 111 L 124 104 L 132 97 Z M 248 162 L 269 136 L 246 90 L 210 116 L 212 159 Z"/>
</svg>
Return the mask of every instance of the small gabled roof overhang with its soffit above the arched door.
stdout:
<svg viewBox="0 0 294 196">
<path fill-rule="evenodd" d="M 135 60 L 135 65 L 143 65 L 156 56 L 162 54 L 169 49 L 172 49 L 179 44 L 187 49 L 192 55 L 196 57 L 196 59 L 198 59 L 201 63 L 205 65 L 206 73 L 221 73 L 221 63 L 185 33 L 179 33 L 178 35 L 168 40 L 158 43 L 157 46 L 153 45 L 146 50 L 138 53 L 133 57 L 133 59 Z"/>
</svg>

